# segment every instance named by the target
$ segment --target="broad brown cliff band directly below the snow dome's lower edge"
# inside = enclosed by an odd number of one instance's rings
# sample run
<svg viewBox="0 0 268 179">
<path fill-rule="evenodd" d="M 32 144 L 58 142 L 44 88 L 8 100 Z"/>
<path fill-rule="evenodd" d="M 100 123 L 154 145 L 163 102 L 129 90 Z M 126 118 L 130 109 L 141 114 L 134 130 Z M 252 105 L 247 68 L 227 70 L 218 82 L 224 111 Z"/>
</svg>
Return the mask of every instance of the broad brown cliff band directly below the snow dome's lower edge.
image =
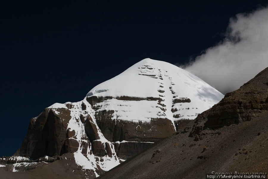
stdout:
<svg viewBox="0 0 268 179">
<path fill-rule="evenodd" d="M 167 118 L 152 118 L 149 123 L 111 120 L 111 116 L 106 113 L 98 113 L 96 122 L 102 130 L 106 139 L 116 141 L 141 141 L 155 142 L 161 138 L 168 137 L 175 132 L 172 121 Z"/>
</svg>

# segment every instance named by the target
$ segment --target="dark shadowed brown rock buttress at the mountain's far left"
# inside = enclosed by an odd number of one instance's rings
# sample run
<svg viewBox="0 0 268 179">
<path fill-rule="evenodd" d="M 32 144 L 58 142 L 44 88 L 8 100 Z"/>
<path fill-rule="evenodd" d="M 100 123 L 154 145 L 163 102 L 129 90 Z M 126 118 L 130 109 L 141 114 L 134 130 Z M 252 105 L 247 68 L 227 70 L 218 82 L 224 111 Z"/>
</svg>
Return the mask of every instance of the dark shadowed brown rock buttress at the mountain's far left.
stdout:
<svg viewBox="0 0 268 179">
<path fill-rule="evenodd" d="M 70 119 L 70 111 L 65 108 L 58 108 L 57 113 L 46 108 L 38 117 L 32 118 L 20 156 L 39 158 L 60 155 Z"/>
</svg>

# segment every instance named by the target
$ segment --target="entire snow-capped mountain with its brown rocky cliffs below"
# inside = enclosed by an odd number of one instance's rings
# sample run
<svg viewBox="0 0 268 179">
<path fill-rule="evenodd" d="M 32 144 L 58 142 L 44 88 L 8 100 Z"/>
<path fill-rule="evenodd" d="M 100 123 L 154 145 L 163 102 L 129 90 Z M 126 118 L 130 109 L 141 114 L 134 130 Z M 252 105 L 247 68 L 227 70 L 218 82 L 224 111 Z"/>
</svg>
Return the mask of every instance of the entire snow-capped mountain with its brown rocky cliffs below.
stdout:
<svg viewBox="0 0 268 179">
<path fill-rule="evenodd" d="M 24 171 L 38 162 L 66 160 L 69 170 L 95 178 L 171 136 L 222 97 L 172 64 L 144 59 L 94 87 L 82 101 L 53 104 L 32 118 L 20 157 L 5 167 Z M 66 154 L 75 162 L 62 157 Z"/>
</svg>

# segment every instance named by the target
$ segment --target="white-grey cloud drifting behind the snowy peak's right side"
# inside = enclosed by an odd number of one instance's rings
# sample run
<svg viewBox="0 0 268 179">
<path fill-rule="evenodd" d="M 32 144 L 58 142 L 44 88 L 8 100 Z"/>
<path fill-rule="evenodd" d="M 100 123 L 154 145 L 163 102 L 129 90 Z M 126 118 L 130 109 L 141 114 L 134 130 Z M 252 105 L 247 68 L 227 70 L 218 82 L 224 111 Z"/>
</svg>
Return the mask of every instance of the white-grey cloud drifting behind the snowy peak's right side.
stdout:
<svg viewBox="0 0 268 179">
<path fill-rule="evenodd" d="M 225 39 L 183 68 L 225 94 L 268 67 L 268 8 L 230 18 Z"/>
</svg>

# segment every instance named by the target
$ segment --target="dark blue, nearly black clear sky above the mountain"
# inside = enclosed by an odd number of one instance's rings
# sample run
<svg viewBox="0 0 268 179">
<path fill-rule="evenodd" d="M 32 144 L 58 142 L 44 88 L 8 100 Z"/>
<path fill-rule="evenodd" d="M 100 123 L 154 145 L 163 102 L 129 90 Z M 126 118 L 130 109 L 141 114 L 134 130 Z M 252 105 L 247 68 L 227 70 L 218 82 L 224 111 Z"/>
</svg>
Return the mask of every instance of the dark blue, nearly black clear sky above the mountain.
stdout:
<svg viewBox="0 0 268 179">
<path fill-rule="evenodd" d="M 185 64 L 223 39 L 229 18 L 265 1 L 6 1 L 0 4 L 0 156 L 29 120 L 82 100 L 144 58 Z"/>
</svg>

